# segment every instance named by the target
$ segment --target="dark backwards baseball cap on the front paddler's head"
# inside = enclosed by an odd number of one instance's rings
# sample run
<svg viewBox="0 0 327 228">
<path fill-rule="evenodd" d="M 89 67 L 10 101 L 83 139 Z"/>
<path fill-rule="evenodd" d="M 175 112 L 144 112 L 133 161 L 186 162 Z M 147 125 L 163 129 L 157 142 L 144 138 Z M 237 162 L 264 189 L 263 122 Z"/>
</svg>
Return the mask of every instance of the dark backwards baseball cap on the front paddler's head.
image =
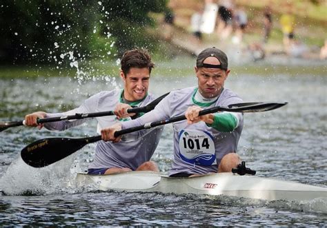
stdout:
<svg viewBox="0 0 327 228">
<path fill-rule="evenodd" d="M 210 56 L 216 57 L 220 65 L 211 65 L 204 63 L 204 60 L 207 59 Z M 218 48 L 212 47 L 212 48 L 206 48 L 200 54 L 197 56 L 197 68 L 219 68 L 221 70 L 227 70 L 228 69 L 228 58 L 222 50 L 219 50 Z"/>
</svg>

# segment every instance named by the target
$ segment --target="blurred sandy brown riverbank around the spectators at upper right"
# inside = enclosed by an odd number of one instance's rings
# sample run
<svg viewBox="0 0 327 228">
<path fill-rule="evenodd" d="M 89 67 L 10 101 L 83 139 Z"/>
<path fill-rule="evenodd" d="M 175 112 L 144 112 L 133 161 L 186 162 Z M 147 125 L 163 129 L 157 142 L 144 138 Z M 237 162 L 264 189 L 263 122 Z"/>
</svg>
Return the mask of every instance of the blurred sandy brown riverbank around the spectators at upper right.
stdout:
<svg viewBox="0 0 327 228">
<path fill-rule="evenodd" d="M 260 3 L 258 1 L 235 1 L 236 6 L 244 8 L 248 14 L 248 25 L 241 42 L 237 42 L 234 33 L 230 34 L 227 39 L 221 39 L 216 30 L 211 34 L 203 34 L 201 41 L 193 36 L 190 18 L 199 7 L 198 1 L 195 0 L 170 1 L 170 6 L 175 14 L 174 24 L 170 26 L 163 23 L 164 15 L 159 15 L 156 19 L 161 21 L 161 24 L 157 32 L 161 39 L 192 55 L 197 55 L 204 48 L 215 46 L 228 53 L 228 56 L 231 56 L 230 59 L 235 63 L 264 60 L 264 64 L 272 65 L 326 65 L 326 60 L 319 58 L 319 52 L 327 37 L 327 31 L 324 29 L 327 25 L 327 19 L 324 17 L 327 5 L 321 3 L 318 8 L 313 3 L 291 1 L 297 19 L 296 36 L 294 45 L 286 52 L 282 42 L 281 25 L 279 25 L 279 18 L 286 8 L 281 7 L 284 6 L 284 3 L 279 0 L 270 2 L 273 29 L 267 43 L 261 42 L 265 1 L 260 1 Z M 303 12 L 304 8 L 308 10 Z"/>
</svg>

